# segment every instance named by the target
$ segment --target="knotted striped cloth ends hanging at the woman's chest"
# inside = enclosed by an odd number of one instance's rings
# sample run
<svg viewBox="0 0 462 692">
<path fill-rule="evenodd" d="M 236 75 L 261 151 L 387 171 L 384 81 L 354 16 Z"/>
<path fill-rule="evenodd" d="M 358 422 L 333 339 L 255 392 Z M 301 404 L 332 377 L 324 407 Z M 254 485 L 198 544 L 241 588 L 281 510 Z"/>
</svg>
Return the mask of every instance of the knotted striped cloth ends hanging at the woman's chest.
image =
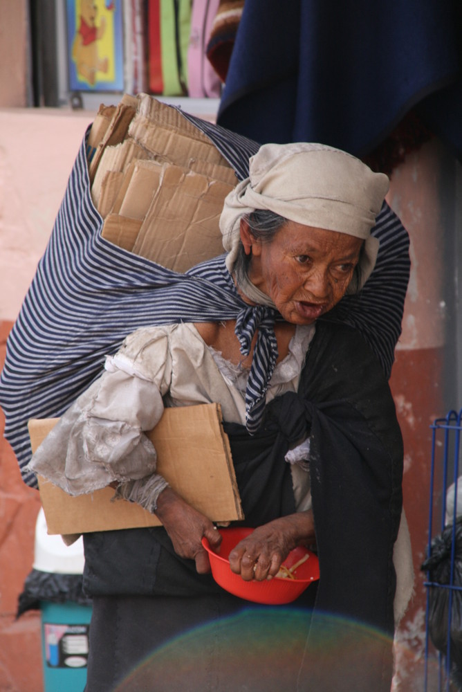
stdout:
<svg viewBox="0 0 462 692">
<path fill-rule="evenodd" d="M 261 424 L 266 391 L 277 361 L 276 314 L 275 309 L 264 305 L 245 308 L 239 312 L 234 329 L 243 356 L 250 354 L 252 340 L 258 332 L 246 389 L 246 428 L 250 435 Z"/>
</svg>

